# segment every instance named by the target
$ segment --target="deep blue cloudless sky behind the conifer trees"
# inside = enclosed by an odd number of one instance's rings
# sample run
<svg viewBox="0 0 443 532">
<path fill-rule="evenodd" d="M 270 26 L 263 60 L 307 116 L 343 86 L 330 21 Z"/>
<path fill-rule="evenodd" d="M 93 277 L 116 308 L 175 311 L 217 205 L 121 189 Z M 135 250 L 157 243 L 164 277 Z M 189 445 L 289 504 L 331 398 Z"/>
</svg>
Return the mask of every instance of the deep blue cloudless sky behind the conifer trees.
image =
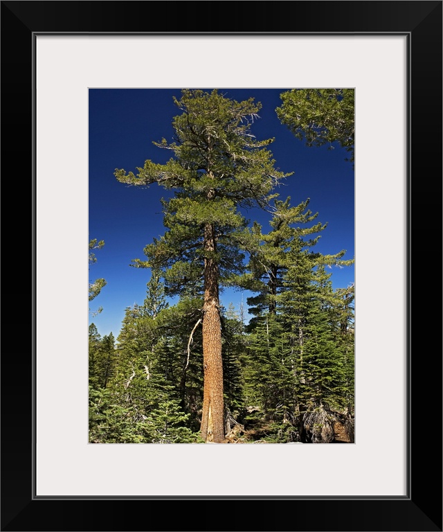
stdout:
<svg viewBox="0 0 443 532">
<path fill-rule="evenodd" d="M 192 87 L 191 87 L 192 88 Z M 334 254 L 346 250 L 344 258 L 354 257 L 354 169 L 345 161 L 347 152 L 338 146 L 307 148 L 282 125 L 275 114 L 285 89 L 224 89 L 228 98 L 237 101 L 255 98 L 262 103 L 260 119 L 251 132 L 257 139 L 275 137 L 269 145 L 275 167 L 294 172 L 277 190 L 280 199 L 291 197 L 295 206 L 310 198 L 309 209 L 318 212 L 316 222 L 327 222 L 316 251 Z M 211 89 L 208 89 L 211 90 Z M 145 259 L 143 248 L 165 232 L 161 197 L 166 191 L 154 184 L 147 189 L 126 186 L 114 177 L 116 168 L 136 173 L 146 159 L 163 163 L 171 157 L 169 150 L 152 144 L 163 137 L 172 141 L 172 118 L 179 110 L 172 96 L 180 98 L 179 89 L 89 89 L 89 238 L 105 240 L 96 251 L 97 262 L 89 269 L 89 280 L 105 278 L 107 285 L 90 302 L 91 310 L 102 306 L 92 317 L 100 335 L 120 332 L 125 308 L 142 304 L 150 269 L 129 266 L 134 258 Z M 263 230 L 269 228 L 269 215 L 258 209 L 246 213 L 257 220 Z M 332 269 L 335 288 L 354 283 L 354 267 Z M 243 294 L 246 305 L 248 292 Z M 242 292 L 226 290 L 221 294 L 225 307 L 236 308 Z"/>
</svg>

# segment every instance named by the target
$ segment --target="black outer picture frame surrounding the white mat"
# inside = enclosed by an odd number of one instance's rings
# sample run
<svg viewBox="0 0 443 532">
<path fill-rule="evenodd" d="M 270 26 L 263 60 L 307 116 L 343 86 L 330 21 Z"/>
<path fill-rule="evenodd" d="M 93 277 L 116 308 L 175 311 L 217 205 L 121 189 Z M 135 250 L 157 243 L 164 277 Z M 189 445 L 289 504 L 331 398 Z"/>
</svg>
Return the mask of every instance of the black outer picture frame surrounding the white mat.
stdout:
<svg viewBox="0 0 443 532">
<path fill-rule="evenodd" d="M 406 410 L 410 467 L 406 497 L 33 496 L 33 39 L 43 33 L 219 33 L 219 28 L 224 28 L 224 33 L 408 35 L 410 292 Z M 14 264 L 8 274 L 27 279 L 17 288 L 14 299 L 17 301 L 19 294 L 29 304 L 19 310 L 8 306 L 7 314 L 12 319 L 3 329 L 6 339 L 14 326 L 17 334 L 15 347 L 4 349 L 1 356 L 1 530 L 442 531 L 442 1 L 1 1 L 1 44 L 3 183 L 14 183 L 17 176 L 15 186 L 19 184 L 19 189 L 11 188 L 6 199 L 8 203 L 11 195 L 19 199 L 21 211 L 25 211 L 21 219 L 26 218 L 26 211 L 30 215 L 30 229 L 20 242 L 20 247 L 26 248 L 26 260 L 11 259 Z M 396 134 L 395 128 L 383 127 L 388 143 L 389 136 Z M 390 232 L 395 234 L 395 229 L 390 228 Z M 17 241 L 11 240 L 10 244 L 17 246 Z M 25 269 L 23 274 L 17 273 L 20 267 Z M 386 308 L 386 313 L 390 311 Z M 29 336 L 24 345 L 26 329 Z M 19 341 L 21 345 L 17 346 Z M 395 412 L 386 405 L 386 411 L 375 415 Z M 377 437 L 389 438 L 389 434 Z M 178 500 L 185 504 L 177 508 L 174 503 Z"/>
</svg>

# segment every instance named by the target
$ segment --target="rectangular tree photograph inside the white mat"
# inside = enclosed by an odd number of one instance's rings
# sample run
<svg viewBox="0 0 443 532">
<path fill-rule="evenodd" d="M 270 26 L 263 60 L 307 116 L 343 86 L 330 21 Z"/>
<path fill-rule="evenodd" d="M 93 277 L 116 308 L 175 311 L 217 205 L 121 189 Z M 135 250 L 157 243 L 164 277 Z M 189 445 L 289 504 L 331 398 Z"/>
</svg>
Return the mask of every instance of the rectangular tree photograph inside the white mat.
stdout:
<svg viewBox="0 0 443 532">
<path fill-rule="evenodd" d="M 353 88 L 89 89 L 89 443 L 354 443 L 354 160 Z"/>
</svg>

